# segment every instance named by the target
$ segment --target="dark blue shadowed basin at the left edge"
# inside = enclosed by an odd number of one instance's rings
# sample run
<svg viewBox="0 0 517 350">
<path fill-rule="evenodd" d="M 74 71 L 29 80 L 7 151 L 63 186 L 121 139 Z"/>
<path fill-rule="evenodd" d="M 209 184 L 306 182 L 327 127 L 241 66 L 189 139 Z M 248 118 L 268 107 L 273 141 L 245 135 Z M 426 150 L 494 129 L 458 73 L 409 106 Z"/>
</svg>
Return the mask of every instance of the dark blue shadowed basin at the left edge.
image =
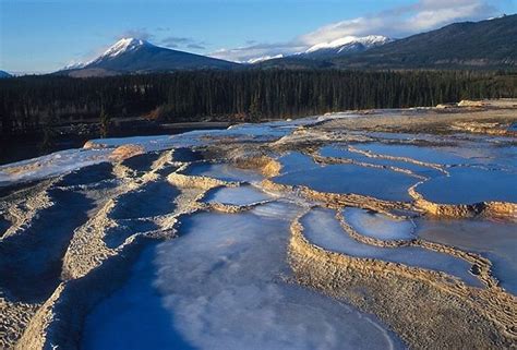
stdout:
<svg viewBox="0 0 517 350">
<path fill-rule="evenodd" d="M 55 205 L 0 242 L 0 288 L 12 300 L 43 301 L 59 285 L 61 258 L 74 229 L 87 220 L 93 202 L 83 194 L 53 189 Z"/>
</svg>

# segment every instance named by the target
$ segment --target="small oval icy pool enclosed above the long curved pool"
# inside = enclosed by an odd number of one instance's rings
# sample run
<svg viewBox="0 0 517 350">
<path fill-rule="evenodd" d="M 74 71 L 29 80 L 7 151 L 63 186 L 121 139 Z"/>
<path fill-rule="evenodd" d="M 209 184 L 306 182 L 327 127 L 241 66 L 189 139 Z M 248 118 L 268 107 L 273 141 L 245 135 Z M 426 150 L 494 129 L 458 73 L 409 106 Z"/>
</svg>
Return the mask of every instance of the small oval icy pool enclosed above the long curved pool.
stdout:
<svg viewBox="0 0 517 350">
<path fill-rule="evenodd" d="M 414 224 L 411 220 L 394 219 L 359 208 L 346 208 L 342 214 L 346 221 L 360 234 L 383 241 L 414 239 Z"/>
</svg>

